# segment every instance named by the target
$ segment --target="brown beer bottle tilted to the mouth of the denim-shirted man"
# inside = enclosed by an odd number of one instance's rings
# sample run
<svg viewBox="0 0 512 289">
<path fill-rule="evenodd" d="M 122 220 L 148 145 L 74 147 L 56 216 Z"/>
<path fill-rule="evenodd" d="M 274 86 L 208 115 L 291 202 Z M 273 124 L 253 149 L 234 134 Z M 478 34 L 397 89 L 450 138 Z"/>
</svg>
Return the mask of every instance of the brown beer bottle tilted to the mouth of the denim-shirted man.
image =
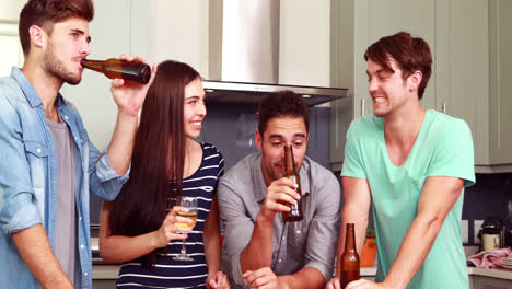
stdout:
<svg viewBox="0 0 512 289">
<path fill-rule="evenodd" d="M 141 62 L 129 62 L 110 58 L 107 60 L 82 59 L 81 65 L 83 68 L 102 72 L 109 79 L 120 78 L 146 84 L 151 78 L 151 68 L 147 63 Z"/>
</svg>

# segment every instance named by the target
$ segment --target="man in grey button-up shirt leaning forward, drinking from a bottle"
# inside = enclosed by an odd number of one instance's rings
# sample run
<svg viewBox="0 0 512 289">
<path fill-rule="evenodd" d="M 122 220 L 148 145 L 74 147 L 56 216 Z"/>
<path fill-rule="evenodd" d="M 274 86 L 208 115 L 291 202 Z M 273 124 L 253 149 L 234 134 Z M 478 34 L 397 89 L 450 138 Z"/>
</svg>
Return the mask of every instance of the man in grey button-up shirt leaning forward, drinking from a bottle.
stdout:
<svg viewBox="0 0 512 289">
<path fill-rule="evenodd" d="M 324 288 L 336 254 L 339 183 L 305 157 L 309 117 L 301 96 L 270 93 L 258 113 L 260 153 L 241 160 L 219 182 L 223 271 L 234 288 Z M 302 196 L 284 177 L 286 144 L 293 146 Z M 303 220 L 284 222 L 287 205 L 301 197 Z"/>
</svg>

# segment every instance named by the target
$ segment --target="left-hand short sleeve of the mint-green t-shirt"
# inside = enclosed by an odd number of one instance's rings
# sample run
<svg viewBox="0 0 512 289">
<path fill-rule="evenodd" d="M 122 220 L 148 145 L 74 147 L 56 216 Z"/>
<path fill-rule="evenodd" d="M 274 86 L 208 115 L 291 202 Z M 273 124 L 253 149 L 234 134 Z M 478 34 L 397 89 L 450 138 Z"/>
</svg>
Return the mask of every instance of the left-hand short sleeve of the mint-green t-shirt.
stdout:
<svg viewBox="0 0 512 289">
<path fill-rule="evenodd" d="M 368 178 L 363 165 L 362 148 L 358 139 L 358 122 L 352 122 L 347 131 L 347 142 L 345 143 L 345 161 L 341 170 L 341 176 Z"/>
</svg>

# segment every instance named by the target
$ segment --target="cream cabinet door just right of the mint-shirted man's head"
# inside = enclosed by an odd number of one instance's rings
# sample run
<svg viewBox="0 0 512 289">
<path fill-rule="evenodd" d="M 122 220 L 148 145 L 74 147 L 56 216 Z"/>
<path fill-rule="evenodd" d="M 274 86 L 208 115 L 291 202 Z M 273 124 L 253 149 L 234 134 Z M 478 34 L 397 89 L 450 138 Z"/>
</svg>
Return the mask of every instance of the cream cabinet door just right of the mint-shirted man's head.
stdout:
<svg viewBox="0 0 512 289">
<path fill-rule="evenodd" d="M 489 154 L 489 9 L 481 0 L 437 1 L 437 108 L 472 128 L 475 163 Z"/>
</svg>

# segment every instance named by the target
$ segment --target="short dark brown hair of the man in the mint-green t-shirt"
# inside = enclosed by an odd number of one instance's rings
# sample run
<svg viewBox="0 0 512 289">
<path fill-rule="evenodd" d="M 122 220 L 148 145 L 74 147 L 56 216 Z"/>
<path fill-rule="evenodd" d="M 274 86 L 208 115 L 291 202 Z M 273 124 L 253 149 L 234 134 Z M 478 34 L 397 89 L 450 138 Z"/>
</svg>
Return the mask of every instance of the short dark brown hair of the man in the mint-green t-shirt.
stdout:
<svg viewBox="0 0 512 289">
<path fill-rule="evenodd" d="M 421 100 L 432 73 L 432 55 L 426 41 L 420 37 L 411 37 L 407 32 L 385 36 L 368 47 L 364 60 L 368 61 L 368 59 L 395 72 L 389 66 L 389 59 L 394 59 L 402 70 L 404 80 L 415 71 L 421 71 L 423 78 L 418 88 L 418 97 Z"/>
</svg>

